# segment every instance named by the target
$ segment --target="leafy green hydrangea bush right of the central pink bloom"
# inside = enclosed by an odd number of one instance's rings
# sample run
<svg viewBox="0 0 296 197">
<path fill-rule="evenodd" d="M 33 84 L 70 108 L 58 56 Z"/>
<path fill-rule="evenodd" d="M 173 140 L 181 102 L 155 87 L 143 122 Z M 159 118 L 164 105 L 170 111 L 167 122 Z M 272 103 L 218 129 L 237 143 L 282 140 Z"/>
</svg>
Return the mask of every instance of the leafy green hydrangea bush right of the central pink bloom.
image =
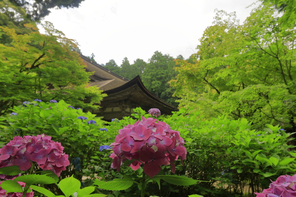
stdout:
<svg viewBox="0 0 296 197">
<path fill-rule="evenodd" d="M 252 193 L 260 192 L 269 184 L 264 178 L 294 174 L 296 152 L 287 145 L 292 140 L 291 133 L 285 133 L 279 126 L 252 130 L 243 118 L 229 120 L 221 116 L 203 121 L 199 112 L 187 112 L 180 109 L 161 119 L 185 140 L 187 158 L 184 167 L 176 168 L 176 174 L 212 182 L 176 188 L 180 196 L 192 193 L 242 196 L 247 183 Z"/>
</svg>

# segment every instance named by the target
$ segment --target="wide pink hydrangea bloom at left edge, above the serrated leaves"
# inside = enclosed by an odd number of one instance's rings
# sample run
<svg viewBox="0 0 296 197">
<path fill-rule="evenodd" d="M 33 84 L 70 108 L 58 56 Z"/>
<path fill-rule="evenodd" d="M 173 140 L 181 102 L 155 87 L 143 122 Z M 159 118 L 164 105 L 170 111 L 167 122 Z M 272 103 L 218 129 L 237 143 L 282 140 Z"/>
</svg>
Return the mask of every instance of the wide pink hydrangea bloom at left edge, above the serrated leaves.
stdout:
<svg viewBox="0 0 296 197">
<path fill-rule="evenodd" d="M 15 136 L 0 149 L 0 167 L 17 165 L 20 170 L 28 170 L 36 162 L 43 170 L 52 170 L 60 175 L 70 165 L 68 155 L 63 153 L 61 143 L 51 140 L 45 134 L 37 136 Z"/>
</svg>

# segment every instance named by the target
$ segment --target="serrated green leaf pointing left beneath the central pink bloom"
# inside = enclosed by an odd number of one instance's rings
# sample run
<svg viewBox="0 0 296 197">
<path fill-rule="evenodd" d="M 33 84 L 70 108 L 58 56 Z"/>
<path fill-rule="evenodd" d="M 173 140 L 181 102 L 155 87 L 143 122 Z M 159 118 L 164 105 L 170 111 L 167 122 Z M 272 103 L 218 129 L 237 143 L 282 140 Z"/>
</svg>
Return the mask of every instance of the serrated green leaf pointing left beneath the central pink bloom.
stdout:
<svg viewBox="0 0 296 197">
<path fill-rule="evenodd" d="M 96 179 L 94 181 L 95 185 L 98 185 L 99 188 L 104 190 L 126 190 L 127 188 L 131 187 L 133 185 L 133 179 L 130 177 L 124 177 L 123 179 L 116 178 L 112 181 L 100 181 Z"/>
</svg>

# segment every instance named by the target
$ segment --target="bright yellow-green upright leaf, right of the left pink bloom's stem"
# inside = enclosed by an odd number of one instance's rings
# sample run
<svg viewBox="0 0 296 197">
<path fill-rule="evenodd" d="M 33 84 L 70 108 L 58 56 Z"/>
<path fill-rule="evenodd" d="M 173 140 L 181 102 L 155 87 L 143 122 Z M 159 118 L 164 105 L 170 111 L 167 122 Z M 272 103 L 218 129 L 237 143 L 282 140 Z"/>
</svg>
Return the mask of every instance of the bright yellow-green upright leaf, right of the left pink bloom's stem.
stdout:
<svg viewBox="0 0 296 197">
<path fill-rule="evenodd" d="M 73 175 L 68 178 L 64 178 L 59 182 L 59 188 L 65 194 L 65 197 L 71 196 L 75 191 L 80 189 L 81 183 L 79 180 L 75 179 Z"/>
</svg>

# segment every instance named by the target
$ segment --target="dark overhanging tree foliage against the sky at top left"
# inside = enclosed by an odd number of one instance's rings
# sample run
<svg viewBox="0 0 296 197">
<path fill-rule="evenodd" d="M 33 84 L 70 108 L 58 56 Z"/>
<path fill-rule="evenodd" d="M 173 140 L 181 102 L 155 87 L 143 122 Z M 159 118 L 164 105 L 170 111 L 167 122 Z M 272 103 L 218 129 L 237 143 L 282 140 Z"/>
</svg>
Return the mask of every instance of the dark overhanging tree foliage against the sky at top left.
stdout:
<svg viewBox="0 0 296 197">
<path fill-rule="evenodd" d="M 43 1 L 28 1 L 28 0 L 9 0 L 12 4 L 20 6 L 26 9 L 28 17 L 31 20 L 38 21 L 47 16 L 50 11 L 49 9 L 62 7 L 65 8 L 75 8 L 79 7 L 81 2 L 84 0 L 43 0 Z"/>
</svg>

